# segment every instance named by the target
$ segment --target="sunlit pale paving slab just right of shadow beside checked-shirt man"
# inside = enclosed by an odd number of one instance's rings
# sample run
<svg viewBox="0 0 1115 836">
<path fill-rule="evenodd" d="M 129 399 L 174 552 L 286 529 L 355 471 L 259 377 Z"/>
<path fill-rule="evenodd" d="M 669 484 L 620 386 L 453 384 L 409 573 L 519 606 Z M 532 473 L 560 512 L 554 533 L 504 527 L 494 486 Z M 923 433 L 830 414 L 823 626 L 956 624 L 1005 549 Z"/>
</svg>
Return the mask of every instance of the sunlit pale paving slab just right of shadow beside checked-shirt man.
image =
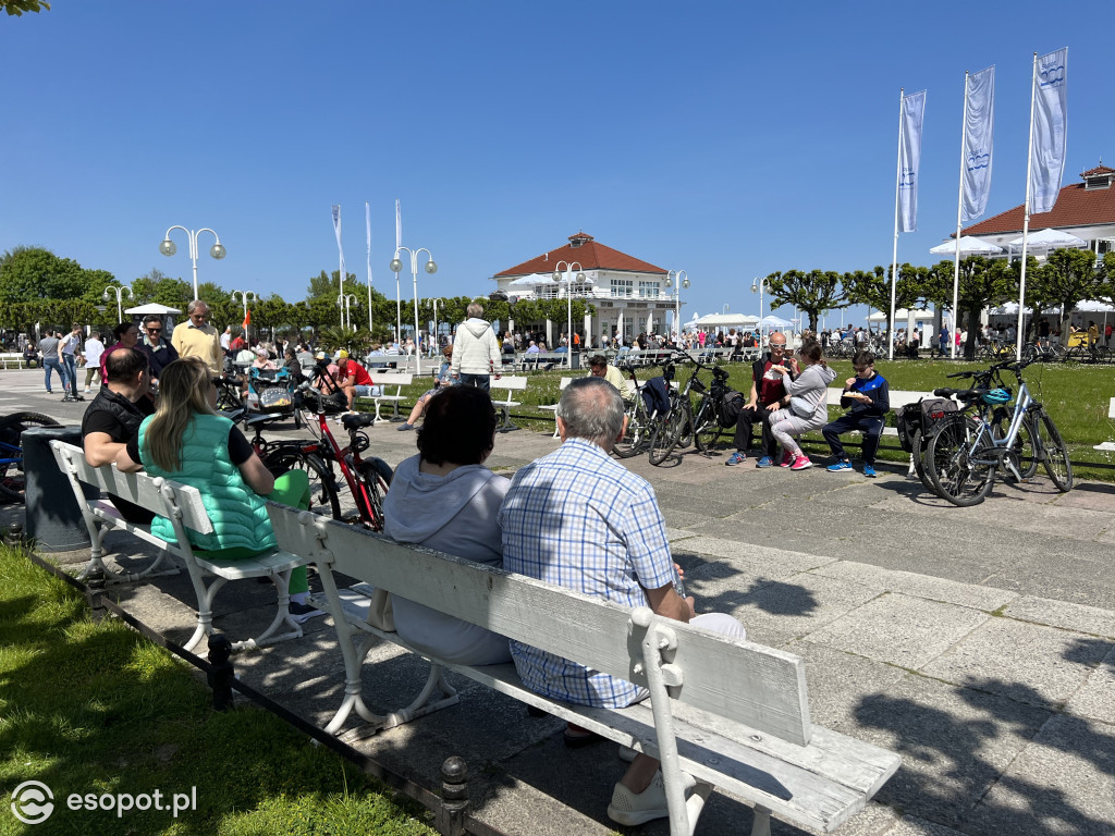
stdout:
<svg viewBox="0 0 1115 836">
<path fill-rule="evenodd" d="M 956 604 L 886 594 L 811 633 L 809 641 L 915 670 L 987 619 Z"/>
</svg>

